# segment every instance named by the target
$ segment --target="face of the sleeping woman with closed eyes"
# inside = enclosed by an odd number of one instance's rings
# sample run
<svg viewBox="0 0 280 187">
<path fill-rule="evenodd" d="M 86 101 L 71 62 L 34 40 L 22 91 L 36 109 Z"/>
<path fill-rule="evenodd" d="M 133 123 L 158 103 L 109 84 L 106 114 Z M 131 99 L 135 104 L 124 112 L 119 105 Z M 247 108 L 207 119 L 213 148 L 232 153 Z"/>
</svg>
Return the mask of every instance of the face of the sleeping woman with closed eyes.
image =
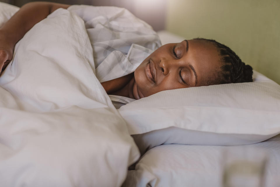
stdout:
<svg viewBox="0 0 280 187">
<path fill-rule="evenodd" d="M 139 99 L 163 90 L 204 86 L 220 66 L 217 48 L 210 42 L 194 39 L 163 45 L 136 68 L 133 96 Z"/>
</svg>

